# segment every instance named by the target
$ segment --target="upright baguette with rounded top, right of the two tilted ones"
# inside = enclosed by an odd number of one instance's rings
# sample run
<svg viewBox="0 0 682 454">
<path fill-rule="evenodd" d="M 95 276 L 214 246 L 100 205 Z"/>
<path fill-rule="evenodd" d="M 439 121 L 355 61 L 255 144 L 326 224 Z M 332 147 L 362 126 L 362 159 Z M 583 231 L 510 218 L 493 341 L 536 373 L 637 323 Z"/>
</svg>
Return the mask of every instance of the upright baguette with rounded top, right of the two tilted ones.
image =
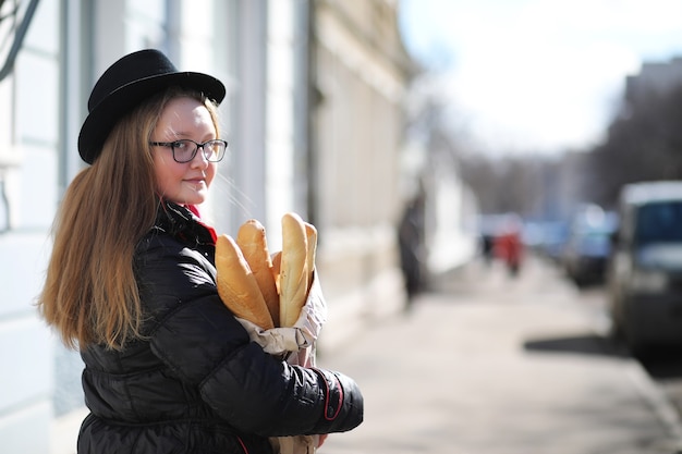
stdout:
<svg viewBox="0 0 682 454">
<path fill-rule="evenodd" d="M 280 263 L 280 324 L 293 327 L 308 291 L 307 235 L 303 220 L 290 212 L 282 217 Z"/>
</svg>

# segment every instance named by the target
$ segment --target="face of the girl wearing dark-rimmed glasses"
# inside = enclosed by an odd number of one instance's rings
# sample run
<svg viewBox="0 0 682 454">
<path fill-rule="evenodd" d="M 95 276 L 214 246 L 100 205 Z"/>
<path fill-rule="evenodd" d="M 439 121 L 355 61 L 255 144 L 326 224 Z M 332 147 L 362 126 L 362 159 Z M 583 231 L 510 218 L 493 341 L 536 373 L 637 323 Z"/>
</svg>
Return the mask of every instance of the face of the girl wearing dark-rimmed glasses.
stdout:
<svg viewBox="0 0 682 454">
<path fill-rule="evenodd" d="M 188 97 L 172 99 L 161 112 L 151 142 L 188 138 L 199 144 L 216 137 L 208 109 Z M 153 146 L 154 171 L 161 197 L 180 205 L 198 205 L 206 200 L 216 175 L 216 162 L 209 162 L 199 148 L 188 162 L 175 162 L 171 147 Z"/>
</svg>

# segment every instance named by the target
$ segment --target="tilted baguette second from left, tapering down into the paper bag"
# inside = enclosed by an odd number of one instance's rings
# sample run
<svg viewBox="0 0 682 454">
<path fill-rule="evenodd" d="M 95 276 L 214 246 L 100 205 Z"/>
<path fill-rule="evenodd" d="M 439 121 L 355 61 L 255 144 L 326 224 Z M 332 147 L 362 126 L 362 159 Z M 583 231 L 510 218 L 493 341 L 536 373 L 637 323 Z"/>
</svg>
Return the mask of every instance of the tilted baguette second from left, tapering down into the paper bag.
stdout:
<svg viewBox="0 0 682 454">
<path fill-rule="evenodd" d="M 279 294 L 275 284 L 272 259 L 268 251 L 265 228 L 255 219 L 244 222 L 236 234 L 236 244 L 248 263 L 276 327 L 279 327 Z"/>
</svg>

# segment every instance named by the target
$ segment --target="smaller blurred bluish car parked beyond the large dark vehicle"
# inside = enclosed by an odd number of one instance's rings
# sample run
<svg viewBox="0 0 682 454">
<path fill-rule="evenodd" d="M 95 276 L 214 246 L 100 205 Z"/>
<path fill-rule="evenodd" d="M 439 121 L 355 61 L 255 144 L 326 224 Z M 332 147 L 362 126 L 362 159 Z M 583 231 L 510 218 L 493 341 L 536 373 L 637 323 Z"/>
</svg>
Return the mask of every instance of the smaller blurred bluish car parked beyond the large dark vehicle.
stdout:
<svg viewBox="0 0 682 454">
<path fill-rule="evenodd" d="M 567 275 L 579 287 L 604 283 L 617 226 L 618 216 L 597 205 L 585 206 L 576 212 L 561 261 Z"/>
</svg>

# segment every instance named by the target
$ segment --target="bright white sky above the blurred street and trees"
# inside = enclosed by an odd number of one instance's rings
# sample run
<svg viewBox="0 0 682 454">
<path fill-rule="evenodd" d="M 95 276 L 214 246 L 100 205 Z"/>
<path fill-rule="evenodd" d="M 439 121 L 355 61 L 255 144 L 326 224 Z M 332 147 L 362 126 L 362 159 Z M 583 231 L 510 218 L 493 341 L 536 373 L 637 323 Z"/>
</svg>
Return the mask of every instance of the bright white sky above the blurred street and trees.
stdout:
<svg viewBox="0 0 682 454">
<path fill-rule="evenodd" d="M 490 152 L 588 149 L 628 75 L 682 57 L 682 0 L 400 0 L 400 23 Z"/>
</svg>

